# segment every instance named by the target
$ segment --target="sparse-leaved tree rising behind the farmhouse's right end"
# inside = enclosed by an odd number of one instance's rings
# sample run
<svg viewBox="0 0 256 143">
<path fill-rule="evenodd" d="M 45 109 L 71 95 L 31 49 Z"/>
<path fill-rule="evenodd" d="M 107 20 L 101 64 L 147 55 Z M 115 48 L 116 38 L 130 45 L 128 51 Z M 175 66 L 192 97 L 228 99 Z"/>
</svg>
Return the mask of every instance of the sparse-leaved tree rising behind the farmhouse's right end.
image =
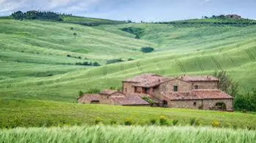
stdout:
<svg viewBox="0 0 256 143">
<path fill-rule="evenodd" d="M 213 76 L 220 80 L 218 86 L 222 91 L 230 94 L 233 97 L 238 94 L 238 82 L 232 80 L 226 71 L 215 71 Z"/>
</svg>

